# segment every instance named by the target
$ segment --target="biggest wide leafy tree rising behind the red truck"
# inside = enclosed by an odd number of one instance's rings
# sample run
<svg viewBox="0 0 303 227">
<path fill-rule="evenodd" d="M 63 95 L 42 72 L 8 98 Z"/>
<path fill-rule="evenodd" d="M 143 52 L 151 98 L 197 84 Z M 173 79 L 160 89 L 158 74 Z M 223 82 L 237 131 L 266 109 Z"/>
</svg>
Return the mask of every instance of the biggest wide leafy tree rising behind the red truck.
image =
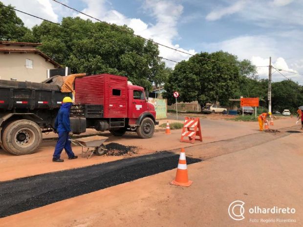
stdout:
<svg viewBox="0 0 303 227">
<path fill-rule="evenodd" d="M 45 54 L 69 66 L 73 73 L 123 75 L 148 90 L 152 84 L 166 80 L 158 46 L 133 36 L 133 30 L 126 25 L 121 27 L 130 33 L 79 17 L 64 18 L 61 24 L 73 30 L 43 21 L 33 27 L 33 36 L 36 42 L 43 43 L 39 48 Z"/>
</svg>

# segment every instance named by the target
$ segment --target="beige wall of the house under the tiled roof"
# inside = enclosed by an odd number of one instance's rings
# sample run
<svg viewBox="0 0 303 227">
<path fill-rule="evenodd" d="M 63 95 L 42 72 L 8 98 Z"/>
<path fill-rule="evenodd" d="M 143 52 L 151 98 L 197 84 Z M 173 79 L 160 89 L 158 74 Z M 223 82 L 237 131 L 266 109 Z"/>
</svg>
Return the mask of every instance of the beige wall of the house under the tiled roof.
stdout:
<svg viewBox="0 0 303 227">
<path fill-rule="evenodd" d="M 33 68 L 26 68 L 26 59 L 33 60 Z M 17 81 L 42 82 L 47 78 L 47 69 L 55 66 L 35 53 L 0 53 L 0 79 Z"/>
</svg>

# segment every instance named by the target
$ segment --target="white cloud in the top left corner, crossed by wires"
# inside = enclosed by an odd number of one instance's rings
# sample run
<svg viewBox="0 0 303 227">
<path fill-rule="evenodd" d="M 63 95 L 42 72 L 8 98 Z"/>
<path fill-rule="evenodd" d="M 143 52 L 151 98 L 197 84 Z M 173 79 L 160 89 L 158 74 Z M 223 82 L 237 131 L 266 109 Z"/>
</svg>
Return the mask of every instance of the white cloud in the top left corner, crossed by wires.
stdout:
<svg viewBox="0 0 303 227">
<path fill-rule="evenodd" d="M 11 4 L 15 6 L 16 9 L 22 10 L 24 12 L 33 14 L 38 17 L 42 17 L 44 19 L 58 22 L 58 15 L 53 10 L 53 2 L 52 0 L 31 0 L 25 2 L 23 0 L 1 0 L 3 4 L 8 5 Z M 33 7 L 33 5 L 35 7 Z M 40 24 L 42 20 L 33 18 L 31 16 L 25 15 L 20 12 L 16 12 L 18 17 L 22 19 L 25 26 L 31 28 L 36 24 Z"/>
</svg>

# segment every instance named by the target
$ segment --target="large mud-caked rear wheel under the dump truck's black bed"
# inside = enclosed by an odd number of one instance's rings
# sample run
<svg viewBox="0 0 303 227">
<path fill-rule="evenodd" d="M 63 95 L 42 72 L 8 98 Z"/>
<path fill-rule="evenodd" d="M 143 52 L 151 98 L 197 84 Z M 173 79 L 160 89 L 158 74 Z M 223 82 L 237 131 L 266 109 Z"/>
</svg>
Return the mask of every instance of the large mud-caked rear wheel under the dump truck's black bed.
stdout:
<svg viewBox="0 0 303 227">
<path fill-rule="evenodd" d="M 2 137 L 4 149 L 15 155 L 34 153 L 41 141 L 40 127 L 29 120 L 18 120 L 8 124 Z"/>
</svg>

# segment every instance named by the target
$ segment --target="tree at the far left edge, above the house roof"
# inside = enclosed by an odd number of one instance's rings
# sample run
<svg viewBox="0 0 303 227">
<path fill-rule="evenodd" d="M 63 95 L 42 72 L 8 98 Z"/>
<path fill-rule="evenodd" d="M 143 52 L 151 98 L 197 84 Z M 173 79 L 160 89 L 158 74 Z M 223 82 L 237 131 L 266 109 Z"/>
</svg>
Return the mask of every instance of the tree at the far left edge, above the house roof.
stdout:
<svg viewBox="0 0 303 227">
<path fill-rule="evenodd" d="M 13 7 L 8 5 L 9 7 Z M 0 1 L 0 40 L 20 41 L 30 37 L 31 31 L 24 26 L 23 21 L 17 17 L 15 10 L 4 7 Z"/>
</svg>

